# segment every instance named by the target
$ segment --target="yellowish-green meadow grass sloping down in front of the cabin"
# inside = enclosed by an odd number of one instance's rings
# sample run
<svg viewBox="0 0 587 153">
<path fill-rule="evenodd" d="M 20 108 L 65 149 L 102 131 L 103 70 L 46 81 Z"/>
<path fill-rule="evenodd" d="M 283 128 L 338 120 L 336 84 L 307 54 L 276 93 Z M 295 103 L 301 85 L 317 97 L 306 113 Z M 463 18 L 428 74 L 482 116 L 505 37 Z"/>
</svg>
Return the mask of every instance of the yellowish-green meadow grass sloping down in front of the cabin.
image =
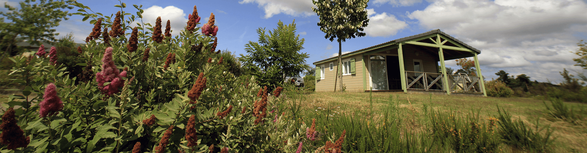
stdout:
<svg viewBox="0 0 587 153">
<path fill-rule="evenodd" d="M 376 138 L 380 140 L 400 139 L 402 145 L 400 148 L 414 147 L 412 151 L 400 151 L 397 148 L 387 148 L 390 152 L 479 152 L 477 146 L 492 146 L 497 152 L 519 152 L 524 149 L 524 145 L 514 145 L 508 142 L 499 142 L 498 144 L 491 144 L 492 141 L 470 142 L 470 145 L 463 145 L 461 148 L 467 148 L 467 151 L 458 151 L 457 141 L 453 138 L 446 137 L 447 140 L 438 140 L 433 142 L 423 142 L 421 140 L 430 140 L 441 135 L 434 132 L 436 127 L 431 127 L 433 123 L 438 123 L 438 116 L 445 118 L 453 117 L 454 120 L 461 120 L 455 122 L 453 127 L 460 126 L 463 134 L 471 135 L 470 131 L 473 125 L 464 125 L 475 123 L 480 125 L 487 131 L 490 118 L 500 118 L 501 113 L 507 111 L 511 120 L 514 122 L 521 121 L 523 126 L 528 127 L 527 130 L 538 134 L 549 135 L 551 144 L 546 151 L 549 152 L 587 152 L 587 125 L 585 124 L 585 116 L 587 116 L 587 104 L 584 103 L 566 103 L 564 104 L 572 110 L 579 117 L 575 122 L 562 120 L 554 117 L 550 111 L 546 109 L 545 103 L 539 98 L 495 98 L 495 97 L 470 97 L 470 96 L 446 96 L 446 95 L 432 95 L 432 94 L 404 94 L 404 93 L 332 93 L 332 92 L 306 92 L 301 96 L 296 97 L 296 103 L 301 107 L 301 112 L 298 113 L 300 118 L 306 124 L 311 123 L 312 118 L 317 118 L 319 125 L 322 127 L 317 130 L 323 130 L 325 136 L 339 135 L 343 128 L 351 128 L 353 130 L 375 130 L 370 133 L 377 135 Z M 502 116 L 504 114 L 501 114 Z M 436 117 L 435 117 L 436 116 Z M 435 119 L 436 118 L 436 119 Z M 360 119 L 360 120 L 359 120 Z M 537 124 L 538 123 L 538 124 Z M 353 125 L 349 125 L 353 124 Z M 371 124 L 371 125 L 369 125 Z M 372 127 L 375 125 L 375 128 Z M 384 125 L 383 125 L 384 124 Z M 463 125 L 460 125 L 463 124 Z M 318 125 L 318 124 L 317 124 Z M 397 131 L 382 131 L 379 127 L 397 127 Z M 497 127 L 500 128 L 500 127 Z M 546 129 L 546 130 L 545 130 Z M 352 131 L 352 130 L 351 130 Z M 440 130 L 438 130 L 440 131 Z M 374 140 L 373 135 L 363 136 L 354 134 L 349 137 L 349 130 L 347 130 L 347 137 L 350 142 L 356 141 L 355 145 L 360 144 L 360 141 L 367 142 L 366 138 Z M 394 132 L 399 137 L 392 137 Z M 420 133 L 420 134 L 418 134 Z M 427 135 L 431 134 L 432 135 Z M 446 133 L 444 135 L 448 135 Z M 487 136 L 487 132 L 474 135 L 474 138 L 493 138 Z M 353 135 L 350 132 L 350 135 Z M 452 136 L 451 136 L 452 137 Z M 324 137 L 327 138 L 327 137 Z M 335 138 L 335 137 L 330 137 Z M 407 142 L 404 140 L 412 140 Z M 439 138 L 437 138 L 439 139 Z M 452 140 L 451 140 L 452 139 Z M 503 138 L 502 138 L 503 139 Z M 328 139 L 327 139 L 328 140 Z M 434 144 L 444 141 L 455 141 L 451 145 Z M 364 145 L 350 147 L 346 149 L 354 150 L 350 152 L 369 152 L 365 147 L 379 147 L 386 145 L 386 141 L 373 141 L 375 146 Z M 372 142 L 372 143 L 373 143 Z M 491 143 L 489 143 L 491 142 Z M 418 145 L 410 145 L 419 143 Z M 489 144 L 487 144 L 489 143 Z M 351 143 L 352 145 L 353 143 Z M 369 144 L 369 143 L 367 143 Z M 315 144 L 319 145 L 319 144 Z M 420 148 L 417 148 L 420 147 Z M 453 149 L 448 149 L 448 148 Z M 455 148 L 457 147 L 457 148 Z M 352 148 L 352 149 L 351 149 Z M 483 148 L 483 147 L 481 147 Z M 419 151 L 414 151 L 414 149 Z M 474 151 L 475 150 L 475 151 Z M 542 150 L 540 150 L 542 151 Z M 376 151 L 373 151 L 376 152 Z M 485 151 L 481 151 L 485 152 Z M 532 152 L 532 151 L 529 151 Z"/>
</svg>

